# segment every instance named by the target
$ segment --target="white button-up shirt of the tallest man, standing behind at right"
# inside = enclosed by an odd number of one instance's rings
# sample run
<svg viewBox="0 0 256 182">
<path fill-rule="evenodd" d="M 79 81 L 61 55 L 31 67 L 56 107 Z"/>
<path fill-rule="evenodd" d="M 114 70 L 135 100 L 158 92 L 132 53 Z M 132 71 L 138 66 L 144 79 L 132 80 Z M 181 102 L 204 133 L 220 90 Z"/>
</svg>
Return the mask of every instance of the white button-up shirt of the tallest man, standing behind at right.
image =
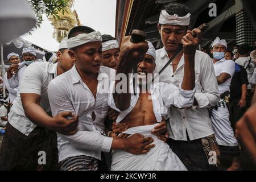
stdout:
<svg viewBox="0 0 256 182">
<path fill-rule="evenodd" d="M 156 51 L 156 68 L 160 69 L 168 62 L 169 57 L 165 48 Z M 220 101 L 218 93 L 217 78 L 215 76 L 212 59 L 201 51 L 196 51 L 195 55 L 195 99 L 198 107 L 192 109 L 170 109 L 170 125 L 167 125 L 169 137 L 175 140 L 190 140 L 208 137 L 214 133 L 212 121 L 209 118 L 208 107 L 216 106 Z M 177 69 L 173 72 L 172 64 L 167 67 L 159 76 L 160 82 L 172 83 L 179 86 L 184 76 L 184 55 L 181 57 Z"/>
</svg>

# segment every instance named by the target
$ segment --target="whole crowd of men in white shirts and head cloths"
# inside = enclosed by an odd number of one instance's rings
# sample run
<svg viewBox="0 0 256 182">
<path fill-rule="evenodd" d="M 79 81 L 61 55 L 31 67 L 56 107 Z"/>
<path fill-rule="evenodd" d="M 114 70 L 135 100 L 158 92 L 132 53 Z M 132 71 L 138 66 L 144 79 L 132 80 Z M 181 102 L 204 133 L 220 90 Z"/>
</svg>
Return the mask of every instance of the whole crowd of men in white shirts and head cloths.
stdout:
<svg viewBox="0 0 256 182">
<path fill-rule="evenodd" d="M 190 16 L 181 4 L 162 10 L 157 51 L 130 36 L 119 48 L 112 36 L 77 26 L 56 55 L 37 60 L 35 48 L 23 48 L 20 63 L 10 53 L 0 169 L 247 169 L 255 158 L 235 131 L 254 103 L 256 53 L 230 51 L 218 37 L 210 56 L 197 50 L 202 32 L 188 30 Z"/>
</svg>

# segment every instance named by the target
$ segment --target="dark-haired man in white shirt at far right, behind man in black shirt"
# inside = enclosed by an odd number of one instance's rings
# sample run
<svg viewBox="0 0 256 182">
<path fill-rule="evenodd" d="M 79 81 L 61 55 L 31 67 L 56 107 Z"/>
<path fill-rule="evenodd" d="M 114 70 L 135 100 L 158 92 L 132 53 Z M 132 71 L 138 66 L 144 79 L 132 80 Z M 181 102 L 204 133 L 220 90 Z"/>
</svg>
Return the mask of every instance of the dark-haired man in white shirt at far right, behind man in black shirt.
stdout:
<svg viewBox="0 0 256 182">
<path fill-rule="evenodd" d="M 238 48 L 238 52 L 240 57 L 236 60 L 236 63 L 241 65 L 246 69 L 248 80 L 251 80 L 253 76 L 253 72 L 255 69 L 255 59 L 250 57 L 250 47 L 246 44 L 241 45 Z M 250 107 L 251 100 L 253 99 L 253 90 L 251 89 L 251 84 L 247 85 L 247 93 L 246 93 L 246 105 Z"/>
</svg>

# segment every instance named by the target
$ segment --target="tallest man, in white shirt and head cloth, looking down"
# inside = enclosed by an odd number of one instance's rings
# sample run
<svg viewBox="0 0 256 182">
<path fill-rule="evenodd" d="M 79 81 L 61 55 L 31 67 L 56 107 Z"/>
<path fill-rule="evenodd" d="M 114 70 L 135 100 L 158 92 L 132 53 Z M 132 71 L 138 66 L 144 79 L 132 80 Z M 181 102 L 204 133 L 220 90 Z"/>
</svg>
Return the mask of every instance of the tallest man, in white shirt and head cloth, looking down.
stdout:
<svg viewBox="0 0 256 182">
<path fill-rule="evenodd" d="M 164 47 L 156 51 L 156 73 L 179 49 L 184 36 L 192 34 L 187 31 L 189 22 L 187 6 L 171 3 L 166 6 L 166 11 L 162 11 L 158 27 Z M 216 169 L 216 155 L 218 156 L 219 151 L 217 147 L 216 150 L 212 147 L 217 143 L 207 110 L 208 107 L 217 105 L 220 100 L 212 60 L 201 51 L 190 52 L 192 56 L 184 52 L 159 75 L 159 81 L 179 86 L 184 76 L 184 61 L 195 59 L 195 101 L 188 109 L 171 107 L 167 127 L 170 138 L 168 143 L 188 170 Z M 214 162 L 209 161 L 211 151 L 216 152 Z"/>
</svg>

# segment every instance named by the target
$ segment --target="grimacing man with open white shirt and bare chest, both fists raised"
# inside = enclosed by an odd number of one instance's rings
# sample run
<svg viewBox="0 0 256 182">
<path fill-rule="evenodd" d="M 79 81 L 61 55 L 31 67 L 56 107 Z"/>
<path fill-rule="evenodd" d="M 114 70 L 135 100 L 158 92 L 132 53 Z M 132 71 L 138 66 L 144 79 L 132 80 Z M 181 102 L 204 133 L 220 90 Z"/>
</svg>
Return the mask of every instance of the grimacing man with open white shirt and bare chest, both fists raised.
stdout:
<svg viewBox="0 0 256 182">
<path fill-rule="evenodd" d="M 184 42 L 184 47 L 190 46 Z M 185 170 L 184 164 L 172 152 L 168 144 L 150 133 L 150 130 L 162 121 L 162 117 L 168 118 L 168 107 L 190 107 L 193 104 L 193 94 L 195 93 L 195 69 L 194 63 L 185 62 L 185 75 L 179 88 L 173 84 L 165 82 L 151 82 L 155 69 L 156 53 L 152 43 L 148 42 L 148 51 L 143 60 L 137 60 L 134 57 L 125 57 L 129 48 L 141 48 L 142 45 L 132 44 L 129 38 L 123 43 L 121 56 L 117 68 L 118 73 L 124 73 L 129 77 L 133 65 L 138 65 L 137 73 L 139 84 L 136 91 L 129 93 L 110 94 L 109 105 L 120 114 L 117 122 L 125 122 L 129 127 L 125 134 L 141 133 L 144 136 L 151 136 L 155 139 L 154 147 L 146 155 L 133 155 L 125 151 L 115 150 L 112 155 L 112 170 L 131 170 L 131 171 L 174 171 Z M 127 59 L 127 60 L 126 60 Z M 133 75 L 131 75 L 133 76 Z M 133 79 L 127 82 L 129 89 L 133 89 Z M 135 78 L 136 80 L 136 78 Z M 119 81 L 120 82 L 120 81 Z M 119 82 L 113 82 L 115 90 L 118 89 Z M 125 106 L 125 107 L 124 107 Z"/>
</svg>

